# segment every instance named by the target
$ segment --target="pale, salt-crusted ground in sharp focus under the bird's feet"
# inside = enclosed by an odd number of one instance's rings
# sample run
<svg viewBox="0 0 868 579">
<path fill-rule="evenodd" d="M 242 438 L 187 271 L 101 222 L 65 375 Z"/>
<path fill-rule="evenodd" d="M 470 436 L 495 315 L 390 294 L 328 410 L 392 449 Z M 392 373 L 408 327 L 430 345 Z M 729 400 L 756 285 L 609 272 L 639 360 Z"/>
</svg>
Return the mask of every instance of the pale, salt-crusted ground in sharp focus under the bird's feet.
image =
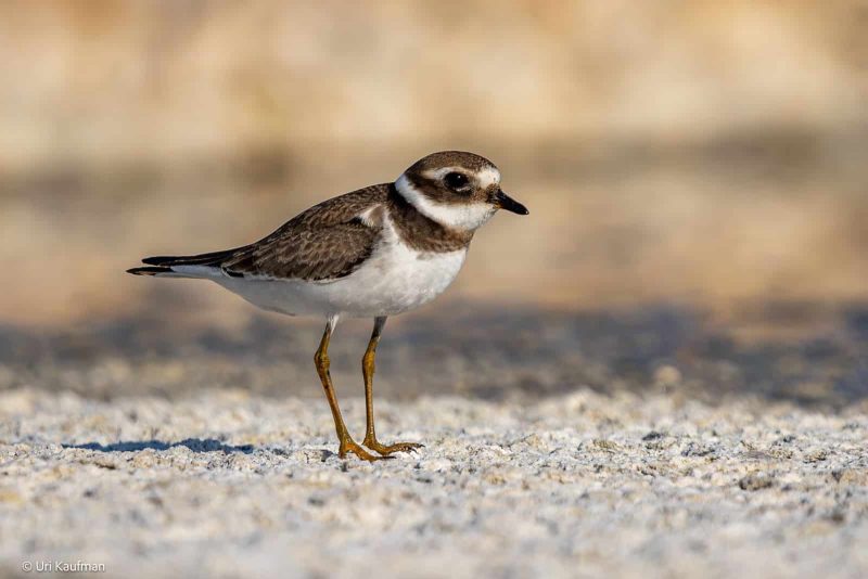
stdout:
<svg viewBox="0 0 868 579">
<path fill-rule="evenodd" d="M 0 575 L 868 575 L 864 409 L 677 400 L 378 400 L 384 440 L 427 446 L 366 464 L 333 454 L 316 398 L 8 389 Z"/>
</svg>

